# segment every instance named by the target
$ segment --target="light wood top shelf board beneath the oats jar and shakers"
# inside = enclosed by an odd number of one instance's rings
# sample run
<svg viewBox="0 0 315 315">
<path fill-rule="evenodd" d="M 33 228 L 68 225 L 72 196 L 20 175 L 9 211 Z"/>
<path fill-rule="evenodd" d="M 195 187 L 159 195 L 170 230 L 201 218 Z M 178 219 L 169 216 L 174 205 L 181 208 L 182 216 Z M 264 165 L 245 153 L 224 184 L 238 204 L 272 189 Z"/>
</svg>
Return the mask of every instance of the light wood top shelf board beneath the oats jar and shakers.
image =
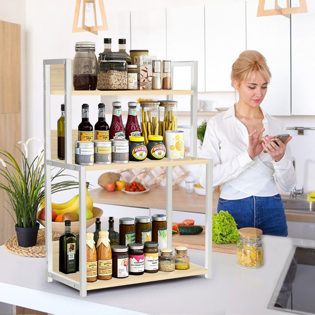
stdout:
<svg viewBox="0 0 315 315">
<path fill-rule="evenodd" d="M 51 90 L 51 95 L 65 95 L 64 90 Z M 193 90 L 112 90 L 112 91 L 75 91 L 72 90 L 72 95 L 193 95 Z"/>
</svg>

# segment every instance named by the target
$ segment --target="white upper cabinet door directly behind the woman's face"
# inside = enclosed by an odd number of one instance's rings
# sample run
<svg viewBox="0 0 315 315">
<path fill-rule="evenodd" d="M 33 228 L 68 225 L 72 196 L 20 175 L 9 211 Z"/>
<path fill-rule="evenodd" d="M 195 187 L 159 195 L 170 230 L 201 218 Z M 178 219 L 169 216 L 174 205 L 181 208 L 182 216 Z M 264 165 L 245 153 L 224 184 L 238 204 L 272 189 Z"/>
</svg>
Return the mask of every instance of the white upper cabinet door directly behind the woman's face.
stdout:
<svg viewBox="0 0 315 315">
<path fill-rule="evenodd" d="M 246 1 L 246 40 L 247 49 L 265 56 L 272 74 L 262 108 L 271 115 L 290 115 L 290 19 L 257 17 L 258 2 Z"/>
</svg>

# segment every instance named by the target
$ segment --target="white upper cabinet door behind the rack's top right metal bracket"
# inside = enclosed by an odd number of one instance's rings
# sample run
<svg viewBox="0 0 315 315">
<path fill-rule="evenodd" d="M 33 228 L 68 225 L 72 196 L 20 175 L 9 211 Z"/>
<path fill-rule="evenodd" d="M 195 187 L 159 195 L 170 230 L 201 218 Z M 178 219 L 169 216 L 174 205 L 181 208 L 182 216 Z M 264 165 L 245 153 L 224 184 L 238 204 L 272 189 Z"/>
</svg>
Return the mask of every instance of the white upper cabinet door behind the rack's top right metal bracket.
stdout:
<svg viewBox="0 0 315 315">
<path fill-rule="evenodd" d="M 204 92 L 204 5 L 169 8 L 166 21 L 167 59 L 198 60 L 198 91 Z M 187 73 L 182 76 L 178 87 L 186 87 L 184 81 L 190 83 L 189 77 Z"/>
</svg>

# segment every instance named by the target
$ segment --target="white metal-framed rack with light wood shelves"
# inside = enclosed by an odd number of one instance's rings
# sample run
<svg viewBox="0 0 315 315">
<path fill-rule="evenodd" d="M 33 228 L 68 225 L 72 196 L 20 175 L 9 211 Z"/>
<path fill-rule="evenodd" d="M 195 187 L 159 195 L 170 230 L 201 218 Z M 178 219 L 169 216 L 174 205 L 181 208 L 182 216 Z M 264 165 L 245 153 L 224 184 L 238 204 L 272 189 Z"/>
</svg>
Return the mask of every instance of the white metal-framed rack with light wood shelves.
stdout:
<svg viewBox="0 0 315 315">
<path fill-rule="evenodd" d="M 46 281 L 57 280 L 80 291 L 80 296 L 86 296 L 87 290 L 116 287 L 121 285 L 146 283 L 151 281 L 166 280 L 204 274 L 205 278 L 211 278 L 212 262 L 212 160 L 197 158 L 197 80 L 198 62 L 183 61 L 172 62 L 172 74 L 174 67 L 191 67 L 191 90 L 144 90 L 144 91 L 74 91 L 72 86 L 72 60 L 52 59 L 43 60 L 43 105 L 44 105 L 44 172 L 45 172 L 45 227 L 46 227 Z M 173 86 L 173 76 L 171 77 Z M 166 95 L 172 100 L 173 95 L 191 95 L 191 156 L 182 159 L 164 157 L 160 161 L 146 158 L 142 162 L 129 162 L 123 164 L 124 169 L 166 167 L 166 215 L 169 234 L 168 247 L 172 248 L 172 171 L 176 165 L 206 164 L 206 231 L 205 231 L 205 266 L 191 263 L 187 270 L 175 270 L 173 272 L 145 273 L 142 276 L 129 276 L 124 279 L 112 278 L 108 281 L 97 280 L 93 283 L 86 282 L 86 171 L 88 170 L 115 170 L 122 165 L 94 164 L 81 166 L 74 163 L 74 142 L 77 140 L 77 130 L 72 130 L 72 95 Z M 64 95 L 65 97 L 65 160 L 57 158 L 56 140 L 51 138 L 50 127 L 50 97 L 51 95 Z M 79 110 L 79 109 L 78 109 Z M 79 265 L 80 271 L 71 274 L 59 272 L 59 242 L 52 241 L 51 221 L 51 167 L 58 167 L 78 172 L 79 200 L 80 200 L 80 242 Z M 84 206 L 83 206 L 84 205 Z"/>
</svg>

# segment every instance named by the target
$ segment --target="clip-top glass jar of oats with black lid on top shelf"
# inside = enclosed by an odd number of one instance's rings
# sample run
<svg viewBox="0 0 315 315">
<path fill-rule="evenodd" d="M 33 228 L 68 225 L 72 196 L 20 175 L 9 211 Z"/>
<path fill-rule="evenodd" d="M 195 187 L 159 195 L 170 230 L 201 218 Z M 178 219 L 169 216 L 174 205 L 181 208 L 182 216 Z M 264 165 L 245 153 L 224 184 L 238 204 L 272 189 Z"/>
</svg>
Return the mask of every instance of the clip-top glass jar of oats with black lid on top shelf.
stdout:
<svg viewBox="0 0 315 315">
<path fill-rule="evenodd" d="M 97 72 L 98 90 L 127 90 L 128 74 L 126 53 L 111 52 L 100 54 Z"/>
</svg>

